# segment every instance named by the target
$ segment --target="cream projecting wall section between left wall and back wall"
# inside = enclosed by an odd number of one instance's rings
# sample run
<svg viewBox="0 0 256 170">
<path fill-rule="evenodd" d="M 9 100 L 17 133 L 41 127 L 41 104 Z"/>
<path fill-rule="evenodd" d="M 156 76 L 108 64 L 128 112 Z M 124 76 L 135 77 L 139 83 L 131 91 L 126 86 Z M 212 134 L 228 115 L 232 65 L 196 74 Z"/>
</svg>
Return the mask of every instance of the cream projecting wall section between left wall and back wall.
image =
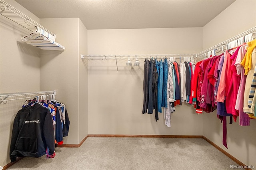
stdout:
<svg viewBox="0 0 256 170">
<path fill-rule="evenodd" d="M 87 52 L 87 30 L 79 18 L 40 19 L 40 24 L 57 34 L 56 42 L 66 48 L 63 52 L 41 52 L 40 90 L 57 90 L 56 97 L 66 105 L 70 119 L 63 142 L 79 144 L 87 135 L 87 72 L 79 54 Z"/>
</svg>

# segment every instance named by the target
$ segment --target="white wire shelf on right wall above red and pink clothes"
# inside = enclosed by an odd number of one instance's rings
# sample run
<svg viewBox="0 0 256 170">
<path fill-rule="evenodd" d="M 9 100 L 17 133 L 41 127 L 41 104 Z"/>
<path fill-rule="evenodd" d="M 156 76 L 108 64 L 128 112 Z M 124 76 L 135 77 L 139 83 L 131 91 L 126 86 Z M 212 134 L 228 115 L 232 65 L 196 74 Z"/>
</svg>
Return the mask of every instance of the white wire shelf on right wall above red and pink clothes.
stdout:
<svg viewBox="0 0 256 170">
<path fill-rule="evenodd" d="M 234 37 L 232 37 L 232 38 L 230 38 L 230 39 L 228 39 L 228 40 L 226 40 L 226 41 L 224 41 L 224 42 L 221 42 L 221 43 L 219 43 L 219 44 L 217 44 L 217 45 L 214 45 L 214 46 L 212 46 L 212 47 L 210 47 L 210 48 L 208 48 L 208 49 L 206 49 L 206 50 L 204 50 L 204 51 L 198 53 L 197 55 L 198 55 L 198 56 L 199 56 L 199 55 L 202 55 L 202 54 L 204 54 L 204 53 L 207 53 L 208 51 L 212 51 L 213 49 L 220 48 L 220 47 L 222 47 L 223 45 L 226 46 L 228 43 L 230 43 L 230 42 L 232 42 L 232 41 L 234 41 L 234 40 L 237 40 L 238 38 L 240 38 L 240 37 L 242 37 L 242 36 L 246 36 L 247 34 L 255 33 L 255 32 L 256 32 L 256 26 L 253 27 L 253 28 L 251 28 L 251 29 L 249 29 L 249 30 L 247 30 L 247 31 L 245 31 L 245 32 L 242 32 L 242 33 L 240 33 L 240 34 L 238 34 L 238 35 L 236 35 L 236 36 L 234 36 Z"/>
</svg>

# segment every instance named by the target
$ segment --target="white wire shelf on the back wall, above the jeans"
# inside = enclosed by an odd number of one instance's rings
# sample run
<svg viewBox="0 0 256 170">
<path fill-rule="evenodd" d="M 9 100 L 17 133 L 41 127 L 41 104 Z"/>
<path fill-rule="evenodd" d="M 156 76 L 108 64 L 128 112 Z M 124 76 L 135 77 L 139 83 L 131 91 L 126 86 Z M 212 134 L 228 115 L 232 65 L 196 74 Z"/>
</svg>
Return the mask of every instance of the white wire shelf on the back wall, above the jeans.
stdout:
<svg viewBox="0 0 256 170">
<path fill-rule="evenodd" d="M 81 59 L 145 59 L 162 57 L 196 57 L 196 54 L 146 54 L 146 55 L 81 55 Z"/>
</svg>

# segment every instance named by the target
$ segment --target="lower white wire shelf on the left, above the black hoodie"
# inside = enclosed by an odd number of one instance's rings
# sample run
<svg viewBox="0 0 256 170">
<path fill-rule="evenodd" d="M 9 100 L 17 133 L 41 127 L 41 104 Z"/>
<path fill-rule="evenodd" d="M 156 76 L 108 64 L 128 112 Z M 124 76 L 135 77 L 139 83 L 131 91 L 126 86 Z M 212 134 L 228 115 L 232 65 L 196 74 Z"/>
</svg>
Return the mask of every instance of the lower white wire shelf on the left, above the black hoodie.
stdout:
<svg viewBox="0 0 256 170">
<path fill-rule="evenodd" d="M 0 103 L 2 103 L 4 101 L 10 101 L 10 100 L 27 99 L 27 98 L 30 98 L 31 95 L 47 95 L 47 94 L 48 95 L 49 94 L 56 95 L 56 90 L 54 90 L 54 91 L 39 91 L 39 92 L 33 92 L 33 93 L 6 93 L 6 94 L 0 95 Z M 27 97 L 6 100 L 8 97 L 21 97 L 21 96 L 27 96 Z"/>
</svg>

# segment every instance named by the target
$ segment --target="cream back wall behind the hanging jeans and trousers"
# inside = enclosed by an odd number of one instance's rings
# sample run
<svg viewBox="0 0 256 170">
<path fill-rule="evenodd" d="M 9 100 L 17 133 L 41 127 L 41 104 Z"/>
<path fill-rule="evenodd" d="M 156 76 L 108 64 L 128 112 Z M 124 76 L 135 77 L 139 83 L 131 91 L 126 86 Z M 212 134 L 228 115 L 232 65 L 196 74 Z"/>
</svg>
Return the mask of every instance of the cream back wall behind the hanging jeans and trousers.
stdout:
<svg viewBox="0 0 256 170">
<path fill-rule="evenodd" d="M 88 54 L 170 54 L 202 50 L 202 28 L 88 30 Z M 202 115 L 177 106 L 172 127 L 163 114 L 142 114 L 144 61 L 88 61 L 88 134 L 202 135 Z"/>
</svg>

